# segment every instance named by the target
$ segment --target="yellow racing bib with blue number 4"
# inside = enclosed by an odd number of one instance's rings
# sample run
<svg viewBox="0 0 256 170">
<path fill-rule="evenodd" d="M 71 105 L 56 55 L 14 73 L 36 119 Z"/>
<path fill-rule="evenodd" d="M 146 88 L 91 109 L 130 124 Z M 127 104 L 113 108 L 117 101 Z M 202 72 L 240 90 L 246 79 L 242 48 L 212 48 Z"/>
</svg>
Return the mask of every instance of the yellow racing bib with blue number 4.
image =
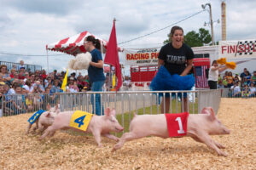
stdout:
<svg viewBox="0 0 256 170">
<path fill-rule="evenodd" d="M 86 131 L 92 114 L 86 111 L 75 111 L 71 116 L 71 120 L 69 122 L 70 127 L 78 128 L 79 130 Z"/>
</svg>

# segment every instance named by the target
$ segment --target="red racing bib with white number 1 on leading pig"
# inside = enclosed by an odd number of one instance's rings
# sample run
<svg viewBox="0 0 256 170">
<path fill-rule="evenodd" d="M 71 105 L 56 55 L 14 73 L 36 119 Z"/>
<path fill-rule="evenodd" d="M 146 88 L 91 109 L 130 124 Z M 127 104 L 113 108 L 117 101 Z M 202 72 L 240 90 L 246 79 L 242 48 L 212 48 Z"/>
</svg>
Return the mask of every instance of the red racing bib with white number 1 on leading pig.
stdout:
<svg viewBox="0 0 256 170">
<path fill-rule="evenodd" d="M 166 113 L 166 123 L 169 137 L 182 137 L 187 135 L 188 112 L 170 114 Z"/>
</svg>

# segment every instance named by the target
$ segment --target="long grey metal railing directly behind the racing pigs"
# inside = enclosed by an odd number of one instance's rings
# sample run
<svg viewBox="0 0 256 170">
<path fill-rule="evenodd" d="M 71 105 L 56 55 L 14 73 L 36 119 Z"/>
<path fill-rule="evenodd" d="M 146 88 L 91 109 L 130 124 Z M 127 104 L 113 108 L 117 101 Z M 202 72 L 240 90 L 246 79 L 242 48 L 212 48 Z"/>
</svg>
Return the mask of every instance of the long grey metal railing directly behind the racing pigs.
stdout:
<svg viewBox="0 0 256 170">
<path fill-rule="evenodd" d="M 201 111 L 204 106 L 212 106 L 218 111 L 221 90 L 200 91 L 122 91 L 122 92 L 86 92 L 86 93 L 63 93 L 63 94 L 13 94 L 3 95 L 3 116 L 13 116 L 22 113 L 34 112 L 46 109 L 47 104 L 60 104 L 61 111 L 88 111 L 96 110 L 96 95 L 99 95 L 103 108 L 115 108 L 117 114 L 125 114 L 140 111 L 143 114 L 159 114 L 160 102 L 166 104 L 166 96 L 170 99 L 170 112 L 183 112 L 184 107 L 189 108 L 190 113 Z M 186 105 L 183 103 L 184 96 L 188 93 Z M 92 100 L 94 101 L 92 101 Z M 94 104 L 94 107 L 93 105 Z M 183 105 L 183 107 L 181 106 Z M 94 111 L 93 111 L 94 109 Z M 167 111 L 164 111 L 167 112 Z M 101 110 L 101 115 L 103 114 Z"/>
</svg>

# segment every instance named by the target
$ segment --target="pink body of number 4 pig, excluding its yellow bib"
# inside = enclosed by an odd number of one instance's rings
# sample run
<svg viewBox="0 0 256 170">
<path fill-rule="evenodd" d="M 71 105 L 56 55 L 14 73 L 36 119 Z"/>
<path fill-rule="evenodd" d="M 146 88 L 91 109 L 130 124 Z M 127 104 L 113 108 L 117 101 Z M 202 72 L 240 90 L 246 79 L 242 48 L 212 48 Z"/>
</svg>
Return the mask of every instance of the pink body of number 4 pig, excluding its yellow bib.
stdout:
<svg viewBox="0 0 256 170">
<path fill-rule="evenodd" d="M 74 111 L 63 111 L 55 117 L 55 122 L 48 127 L 40 139 L 44 139 L 46 136 L 53 136 L 55 131 L 58 129 L 73 129 L 75 131 L 84 132 L 74 127 L 69 126 L 69 122 L 73 115 Z M 105 110 L 104 116 L 92 116 L 90 123 L 87 127 L 85 133 L 92 133 L 96 139 L 96 143 L 99 147 L 102 147 L 101 144 L 101 135 L 107 137 L 108 139 L 113 139 L 119 141 L 119 138 L 110 134 L 110 132 L 122 132 L 124 127 L 122 127 L 117 119 L 115 118 L 115 110 L 110 111 L 109 108 Z"/>
</svg>

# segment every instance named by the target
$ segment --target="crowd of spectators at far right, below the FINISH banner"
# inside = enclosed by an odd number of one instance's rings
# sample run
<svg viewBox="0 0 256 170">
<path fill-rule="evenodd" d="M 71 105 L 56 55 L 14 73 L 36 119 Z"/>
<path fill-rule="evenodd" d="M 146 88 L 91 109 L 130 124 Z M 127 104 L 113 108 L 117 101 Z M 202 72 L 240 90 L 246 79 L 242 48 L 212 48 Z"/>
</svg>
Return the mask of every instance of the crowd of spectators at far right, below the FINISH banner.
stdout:
<svg viewBox="0 0 256 170">
<path fill-rule="evenodd" d="M 230 88 L 230 97 L 255 97 L 256 71 L 251 74 L 247 68 L 244 68 L 240 75 L 225 71 L 224 76 L 218 75 L 218 88 Z"/>
</svg>

